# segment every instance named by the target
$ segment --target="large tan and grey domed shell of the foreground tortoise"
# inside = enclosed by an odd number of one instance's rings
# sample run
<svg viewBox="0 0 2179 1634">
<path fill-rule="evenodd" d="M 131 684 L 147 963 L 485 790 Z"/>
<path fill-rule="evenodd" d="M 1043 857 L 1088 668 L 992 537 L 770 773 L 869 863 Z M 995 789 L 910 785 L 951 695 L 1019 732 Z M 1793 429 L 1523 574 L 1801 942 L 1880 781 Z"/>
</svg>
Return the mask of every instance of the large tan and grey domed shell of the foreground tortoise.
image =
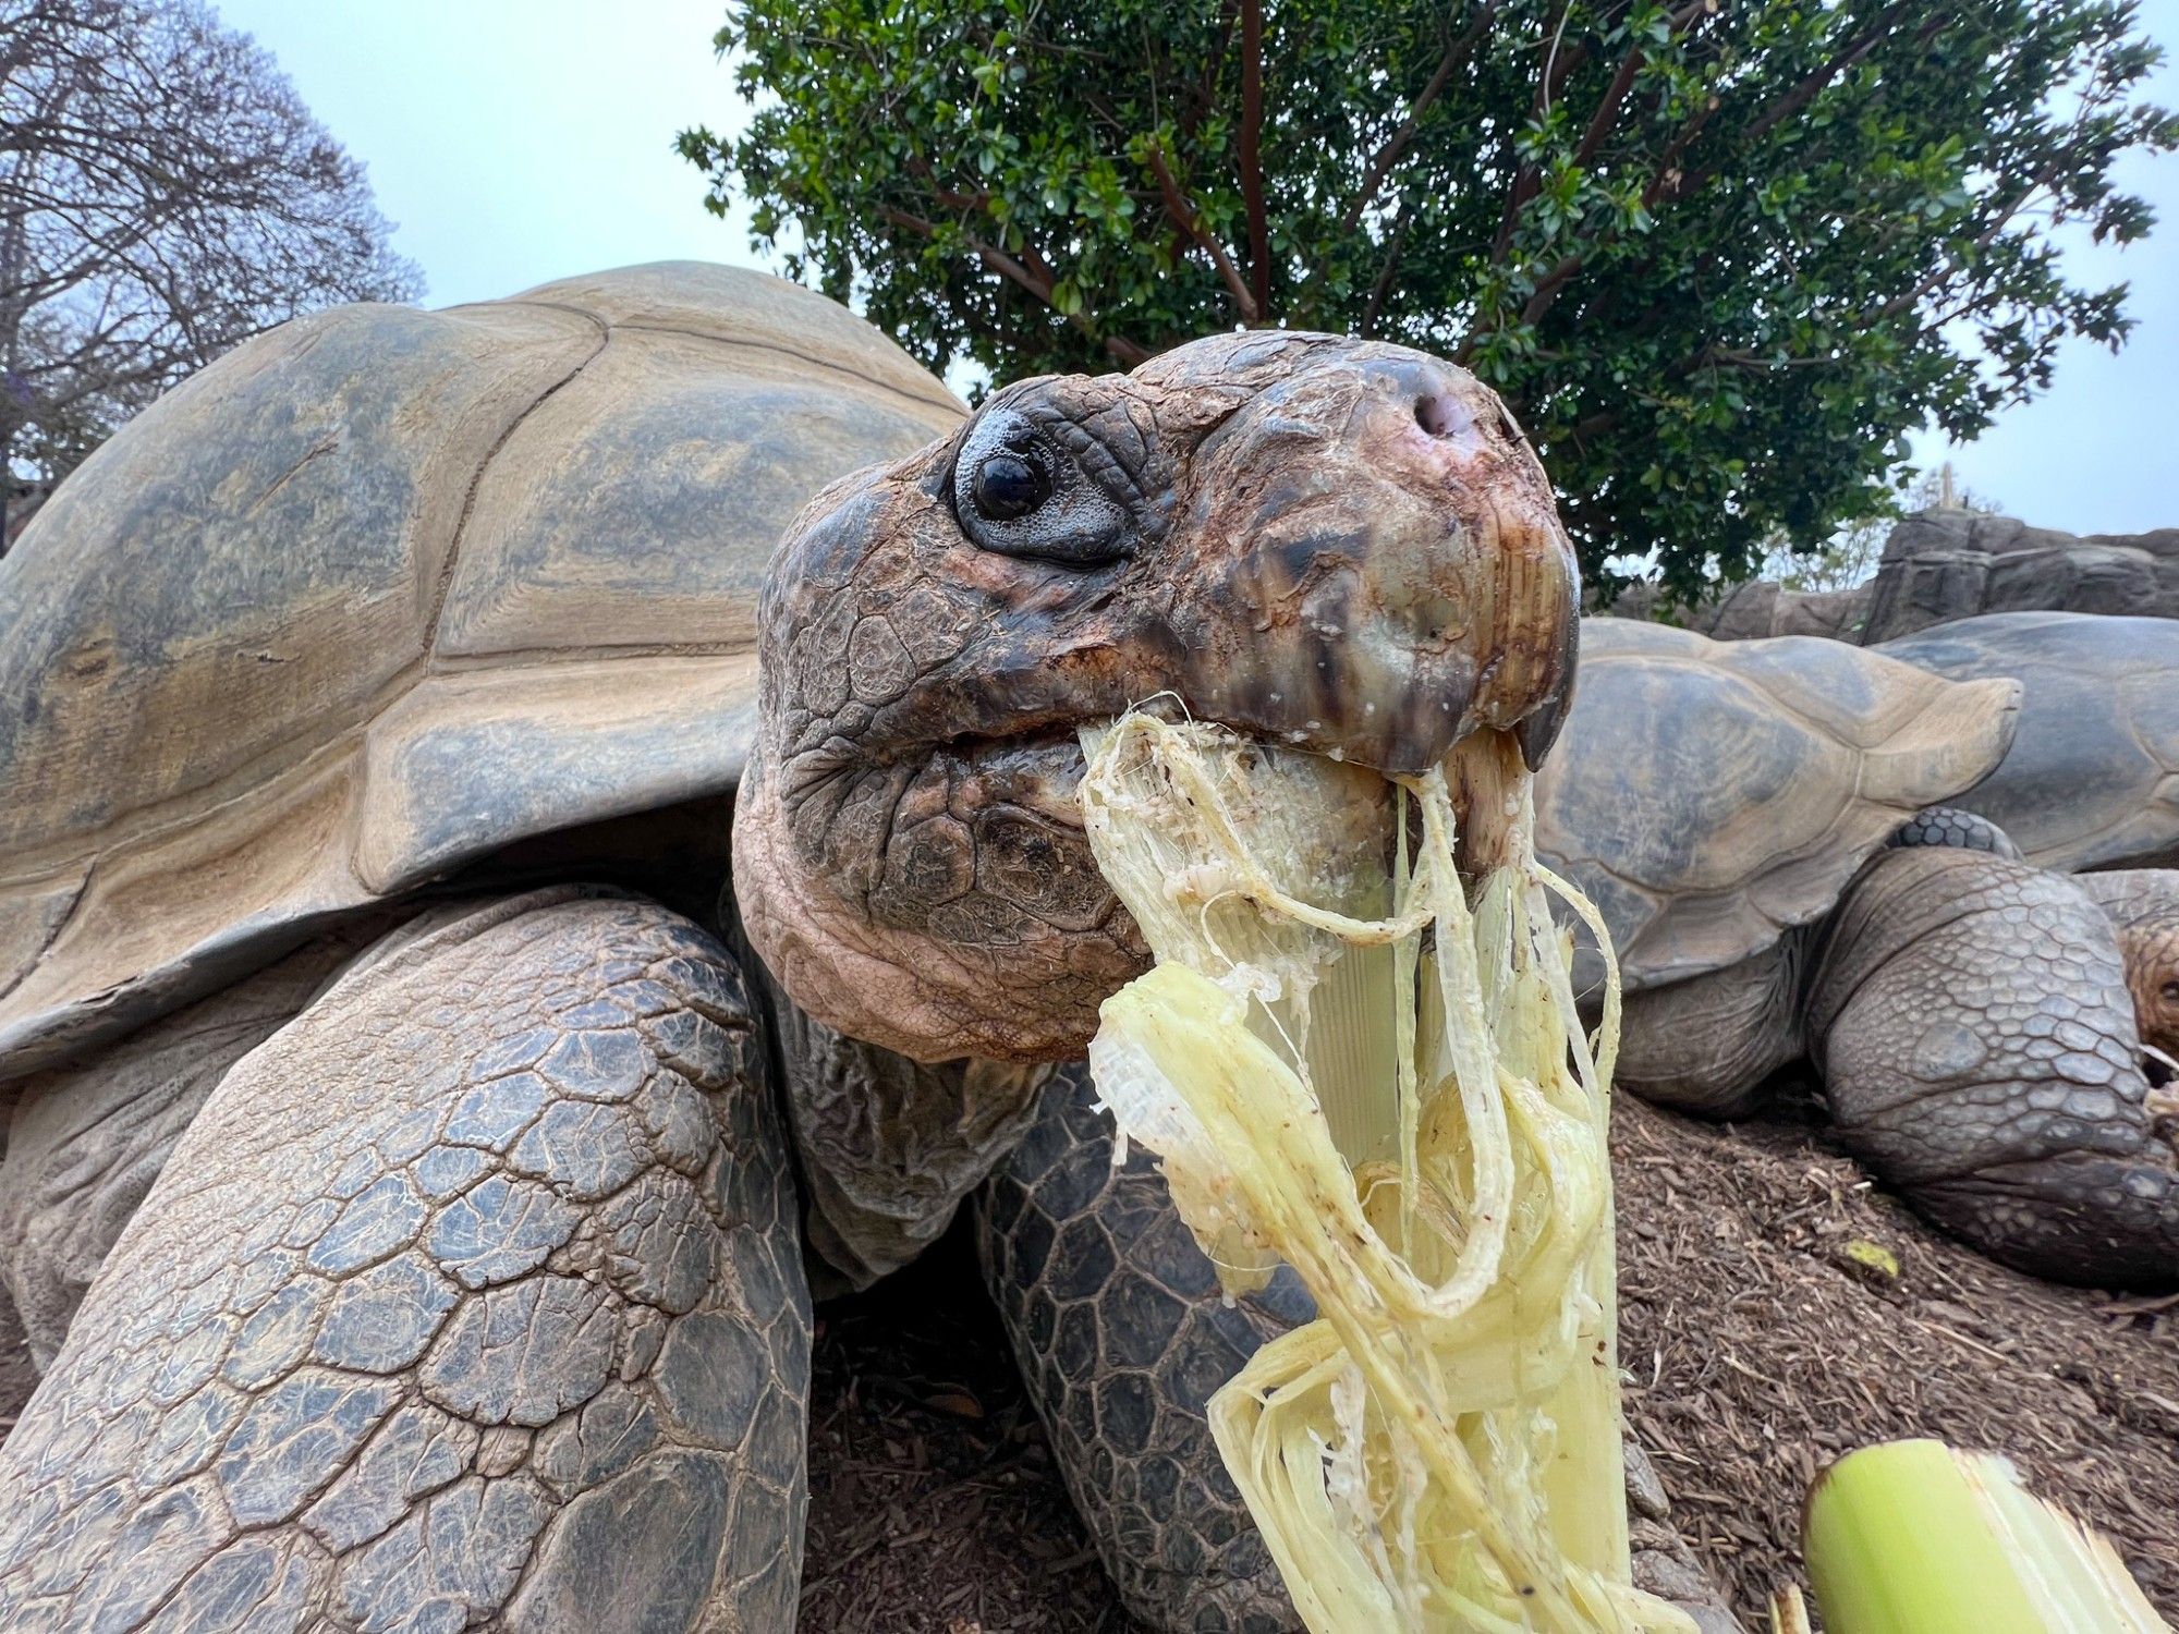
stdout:
<svg viewBox="0 0 2179 1634">
<path fill-rule="evenodd" d="M 0 562 L 0 1074 L 730 789 L 780 532 L 961 412 L 843 307 L 693 261 L 338 307 L 163 397 Z"/>
</svg>

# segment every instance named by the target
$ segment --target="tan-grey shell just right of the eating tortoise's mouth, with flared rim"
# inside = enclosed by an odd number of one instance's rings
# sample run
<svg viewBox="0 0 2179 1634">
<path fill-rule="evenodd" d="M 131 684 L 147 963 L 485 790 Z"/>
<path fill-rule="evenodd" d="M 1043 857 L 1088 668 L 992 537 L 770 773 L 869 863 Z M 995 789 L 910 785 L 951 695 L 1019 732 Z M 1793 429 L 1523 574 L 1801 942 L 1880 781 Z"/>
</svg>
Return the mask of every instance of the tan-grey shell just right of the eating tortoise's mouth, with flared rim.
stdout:
<svg viewBox="0 0 2179 1634">
<path fill-rule="evenodd" d="M 1726 970 L 1998 765 L 2018 693 L 1817 636 L 1586 619 L 1536 850 L 1604 913 L 1628 989 Z"/>
</svg>

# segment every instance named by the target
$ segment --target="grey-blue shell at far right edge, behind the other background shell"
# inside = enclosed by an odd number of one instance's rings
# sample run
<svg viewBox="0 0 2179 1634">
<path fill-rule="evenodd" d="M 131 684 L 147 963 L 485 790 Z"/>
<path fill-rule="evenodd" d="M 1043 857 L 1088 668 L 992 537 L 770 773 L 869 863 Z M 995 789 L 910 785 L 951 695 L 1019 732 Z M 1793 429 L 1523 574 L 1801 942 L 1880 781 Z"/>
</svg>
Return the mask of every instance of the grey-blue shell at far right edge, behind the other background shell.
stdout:
<svg viewBox="0 0 2179 1634">
<path fill-rule="evenodd" d="M 1955 680 L 2011 675 L 2020 730 L 1957 804 L 2037 867 L 2179 865 L 2179 621 L 1992 612 L 1874 651 Z"/>
</svg>

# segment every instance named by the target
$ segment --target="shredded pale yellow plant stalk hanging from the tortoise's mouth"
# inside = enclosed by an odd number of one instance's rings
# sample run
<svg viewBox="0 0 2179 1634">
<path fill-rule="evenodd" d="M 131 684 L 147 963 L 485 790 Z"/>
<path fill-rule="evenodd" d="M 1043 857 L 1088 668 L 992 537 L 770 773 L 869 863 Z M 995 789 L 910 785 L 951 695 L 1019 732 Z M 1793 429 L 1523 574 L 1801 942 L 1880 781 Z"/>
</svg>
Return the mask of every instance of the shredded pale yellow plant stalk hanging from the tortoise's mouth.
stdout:
<svg viewBox="0 0 2179 1634">
<path fill-rule="evenodd" d="M 1619 978 L 1591 1041 L 1551 898 L 1608 939 L 1534 856 L 1512 743 L 1412 780 L 1146 712 L 1083 747 L 1090 843 L 1157 956 L 1100 1013 L 1098 1092 L 1229 1292 L 1283 1259 L 1316 1296 L 1209 1405 L 1303 1621 L 1693 1630 L 1628 1582 Z"/>
</svg>

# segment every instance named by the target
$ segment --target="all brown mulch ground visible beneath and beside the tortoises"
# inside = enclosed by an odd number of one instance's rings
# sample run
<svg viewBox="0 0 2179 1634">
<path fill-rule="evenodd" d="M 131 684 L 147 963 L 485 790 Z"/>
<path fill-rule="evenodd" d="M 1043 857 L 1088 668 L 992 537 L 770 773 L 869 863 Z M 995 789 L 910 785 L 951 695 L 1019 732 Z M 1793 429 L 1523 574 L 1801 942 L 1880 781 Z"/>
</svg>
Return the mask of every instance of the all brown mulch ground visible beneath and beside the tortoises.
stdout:
<svg viewBox="0 0 2179 1634">
<path fill-rule="evenodd" d="M 2016 1277 L 1937 1237 L 1791 1120 L 1617 1115 L 1628 1412 L 1695 1551 L 1754 1621 L 1800 1577 L 1800 1497 L 1898 1436 L 1994 1447 L 2179 1621 L 2179 1296 Z M 1896 1281 L 1850 1242 L 1889 1248 Z M 0 1427 L 28 1359 L 0 1309 Z M 802 1627 L 1124 1634 L 957 1231 L 819 1309 Z"/>
</svg>

